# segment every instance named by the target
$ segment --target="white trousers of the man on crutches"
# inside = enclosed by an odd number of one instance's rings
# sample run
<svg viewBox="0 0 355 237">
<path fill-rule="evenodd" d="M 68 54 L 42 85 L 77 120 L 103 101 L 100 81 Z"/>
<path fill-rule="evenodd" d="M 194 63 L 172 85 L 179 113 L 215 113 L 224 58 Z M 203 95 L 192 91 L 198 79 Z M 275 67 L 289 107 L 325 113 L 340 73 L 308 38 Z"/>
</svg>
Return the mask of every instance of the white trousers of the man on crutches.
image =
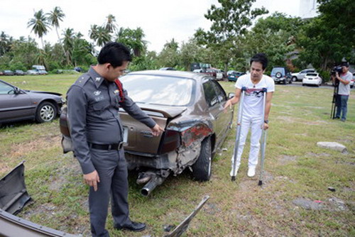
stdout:
<svg viewBox="0 0 355 237">
<path fill-rule="evenodd" d="M 256 167 L 258 165 L 258 154 L 260 150 L 260 138 L 261 138 L 261 126 L 263 126 L 263 119 L 261 116 L 257 118 L 251 118 L 248 116 L 243 116 L 241 121 L 241 135 L 239 138 L 239 149 L 238 155 L 236 157 L 236 171 L 241 165 L 241 154 L 244 150 L 244 145 L 246 141 L 246 136 L 248 136 L 249 128 L 251 128 L 251 137 L 250 137 L 250 151 L 249 151 L 249 167 Z M 233 152 L 234 153 L 234 152 Z M 233 170 L 234 165 L 234 154 L 231 156 L 231 165 Z"/>
</svg>

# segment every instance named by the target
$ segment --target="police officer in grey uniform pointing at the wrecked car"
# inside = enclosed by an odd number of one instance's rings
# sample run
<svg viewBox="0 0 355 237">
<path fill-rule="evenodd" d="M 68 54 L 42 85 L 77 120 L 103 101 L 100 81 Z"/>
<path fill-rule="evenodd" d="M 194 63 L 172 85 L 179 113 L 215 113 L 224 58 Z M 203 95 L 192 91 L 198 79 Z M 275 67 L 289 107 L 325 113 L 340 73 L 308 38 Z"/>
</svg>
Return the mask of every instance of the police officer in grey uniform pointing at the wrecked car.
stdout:
<svg viewBox="0 0 355 237">
<path fill-rule="evenodd" d="M 104 45 L 90 67 L 67 92 L 67 108 L 74 153 L 84 182 L 89 184 L 92 236 L 109 236 L 105 229 L 109 197 L 114 227 L 143 231 L 145 224 L 129 219 L 128 180 L 124 158 L 123 128 L 119 106 L 146 124 L 154 136 L 163 132 L 115 83 L 131 62 L 129 49 L 121 43 Z"/>
</svg>

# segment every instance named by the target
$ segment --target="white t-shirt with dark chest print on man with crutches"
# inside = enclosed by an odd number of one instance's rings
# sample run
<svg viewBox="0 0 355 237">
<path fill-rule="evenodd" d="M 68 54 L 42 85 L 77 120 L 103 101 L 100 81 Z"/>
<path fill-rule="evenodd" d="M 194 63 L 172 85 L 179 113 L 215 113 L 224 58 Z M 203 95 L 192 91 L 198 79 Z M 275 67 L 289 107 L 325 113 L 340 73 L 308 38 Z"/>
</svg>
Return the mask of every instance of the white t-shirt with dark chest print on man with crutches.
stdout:
<svg viewBox="0 0 355 237">
<path fill-rule="evenodd" d="M 243 115 L 248 117 L 263 115 L 263 88 L 266 92 L 275 92 L 275 82 L 271 77 L 263 75 L 258 84 L 251 82 L 251 75 L 243 75 L 236 80 L 236 88 L 241 89 L 246 87 Z"/>
</svg>

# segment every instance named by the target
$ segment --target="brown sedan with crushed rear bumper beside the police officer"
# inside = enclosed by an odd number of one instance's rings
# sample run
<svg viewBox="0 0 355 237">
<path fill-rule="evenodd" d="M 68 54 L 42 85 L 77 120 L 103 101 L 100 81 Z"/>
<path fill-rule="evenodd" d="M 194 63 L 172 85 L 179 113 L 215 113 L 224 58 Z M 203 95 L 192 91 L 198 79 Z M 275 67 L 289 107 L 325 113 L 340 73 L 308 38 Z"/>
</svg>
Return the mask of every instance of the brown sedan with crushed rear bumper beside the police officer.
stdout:
<svg viewBox="0 0 355 237">
<path fill-rule="evenodd" d="M 180 71 L 131 72 L 120 78 L 133 101 L 165 132 L 150 129 L 123 109 L 124 151 L 129 170 L 139 170 L 138 184 L 148 195 L 168 175 L 187 167 L 195 180 L 211 178 L 212 158 L 228 135 L 234 110 L 224 113 L 224 89 L 209 75 Z M 234 94 L 230 94 L 233 97 Z M 63 148 L 69 138 L 66 114 L 60 116 Z"/>
</svg>

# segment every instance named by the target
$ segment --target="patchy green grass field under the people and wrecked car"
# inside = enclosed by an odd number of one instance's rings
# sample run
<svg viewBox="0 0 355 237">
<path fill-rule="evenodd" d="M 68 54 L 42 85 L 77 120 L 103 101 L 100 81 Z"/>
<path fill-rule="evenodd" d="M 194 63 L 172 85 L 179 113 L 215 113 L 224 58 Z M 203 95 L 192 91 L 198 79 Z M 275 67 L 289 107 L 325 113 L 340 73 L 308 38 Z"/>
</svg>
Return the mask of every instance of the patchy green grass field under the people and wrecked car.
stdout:
<svg viewBox="0 0 355 237">
<path fill-rule="evenodd" d="M 65 94 L 78 75 L 1 77 L 21 89 Z M 234 83 L 221 83 L 234 92 Z M 277 85 L 271 108 L 263 186 L 246 176 L 249 143 L 236 182 L 229 177 L 235 127 L 214 158 L 210 182 L 195 182 L 188 171 L 169 177 L 150 197 L 141 197 L 136 174 L 129 175 L 131 219 L 146 222 L 141 233 L 163 236 L 178 225 L 204 195 L 210 199 L 183 236 L 355 236 L 355 90 L 346 122 L 330 119 L 331 87 Z M 348 153 L 317 147 L 318 141 L 346 145 Z M 0 127 L 0 176 L 22 160 L 33 202 L 18 216 L 69 233 L 89 236 L 87 187 L 77 161 L 63 155 L 58 119 Z M 334 187 L 335 192 L 328 190 Z"/>
</svg>

